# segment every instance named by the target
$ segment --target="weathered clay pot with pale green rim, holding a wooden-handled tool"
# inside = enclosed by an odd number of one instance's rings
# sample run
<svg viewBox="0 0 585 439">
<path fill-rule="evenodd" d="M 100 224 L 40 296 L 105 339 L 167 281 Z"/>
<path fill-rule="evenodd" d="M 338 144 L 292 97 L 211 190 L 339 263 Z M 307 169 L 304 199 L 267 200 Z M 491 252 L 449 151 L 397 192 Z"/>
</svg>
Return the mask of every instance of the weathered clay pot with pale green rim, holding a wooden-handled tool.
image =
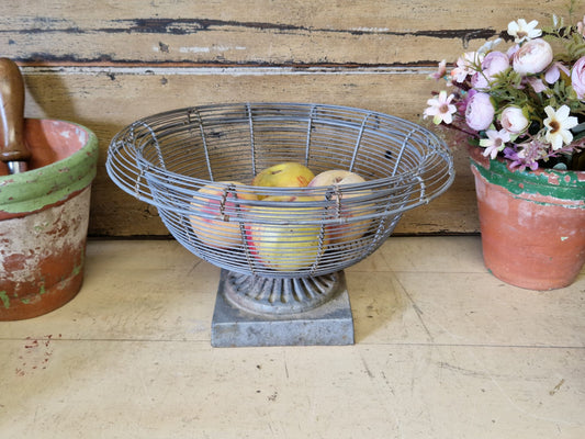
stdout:
<svg viewBox="0 0 585 439">
<path fill-rule="evenodd" d="M 64 121 L 26 120 L 30 170 L 0 162 L 0 320 L 38 316 L 81 288 L 98 140 Z"/>
</svg>

